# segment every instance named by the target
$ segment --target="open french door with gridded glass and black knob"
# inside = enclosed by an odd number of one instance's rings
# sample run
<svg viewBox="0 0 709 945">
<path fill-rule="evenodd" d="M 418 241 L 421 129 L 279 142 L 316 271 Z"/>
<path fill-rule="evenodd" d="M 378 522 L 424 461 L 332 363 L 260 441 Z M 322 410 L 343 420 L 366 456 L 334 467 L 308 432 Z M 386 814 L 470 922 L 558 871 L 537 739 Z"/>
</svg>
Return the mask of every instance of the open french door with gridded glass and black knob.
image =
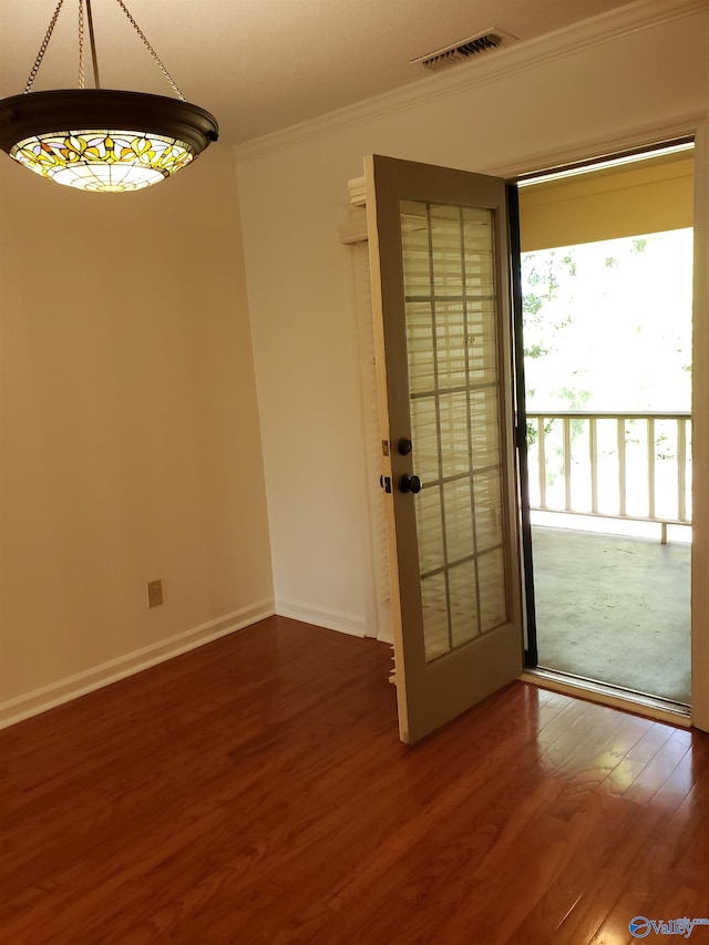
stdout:
<svg viewBox="0 0 709 945">
<path fill-rule="evenodd" d="M 413 743 L 522 671 L 504 182 L 373 156 L 395 684 Z"/>
</svg>

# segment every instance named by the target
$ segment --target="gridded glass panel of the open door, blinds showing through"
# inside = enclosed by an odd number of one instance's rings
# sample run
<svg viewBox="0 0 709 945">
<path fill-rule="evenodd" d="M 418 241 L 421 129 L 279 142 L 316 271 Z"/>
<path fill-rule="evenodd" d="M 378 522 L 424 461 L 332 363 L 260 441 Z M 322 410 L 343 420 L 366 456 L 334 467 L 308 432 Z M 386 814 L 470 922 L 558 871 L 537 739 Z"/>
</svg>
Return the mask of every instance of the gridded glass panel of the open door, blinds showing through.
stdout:
<svg viewBox="0 0 709 945">
<path fill-rule="evenodd" d="M 401 205 L 427 660 L 507 619 L 491 210 Z"/>
</svg>

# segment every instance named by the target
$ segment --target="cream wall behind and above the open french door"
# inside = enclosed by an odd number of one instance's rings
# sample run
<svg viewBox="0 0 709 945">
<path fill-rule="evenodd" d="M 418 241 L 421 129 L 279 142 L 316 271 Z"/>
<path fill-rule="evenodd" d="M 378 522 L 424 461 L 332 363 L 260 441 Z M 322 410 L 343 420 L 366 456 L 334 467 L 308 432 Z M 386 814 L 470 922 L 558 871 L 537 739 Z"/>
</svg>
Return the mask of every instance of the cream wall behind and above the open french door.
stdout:
<svg viewBox="0 0 709 945">
<path fill-rule="evenodd" d="M 318 623 L 367 628 L 350 250 L 338 242 L 348 179 L 372 152 L 514 173 L 538 170 L 545 155 L 590 156 L 600 143 L 690 126 L 685 116 L 709 110 L 707 3 L 628 9 L 238 150 L 282 613 L 300 608 Z"/>
</svg>

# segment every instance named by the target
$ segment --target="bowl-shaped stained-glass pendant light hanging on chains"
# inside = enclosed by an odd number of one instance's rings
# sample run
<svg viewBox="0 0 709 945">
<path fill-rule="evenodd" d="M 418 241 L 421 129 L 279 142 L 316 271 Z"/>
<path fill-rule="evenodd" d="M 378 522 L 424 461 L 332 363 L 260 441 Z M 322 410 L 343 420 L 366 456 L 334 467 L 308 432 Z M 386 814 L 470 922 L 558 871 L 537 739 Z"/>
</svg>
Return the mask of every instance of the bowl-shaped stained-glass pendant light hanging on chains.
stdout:
<svg viewBox="0 0 709 945">
<path fill-rule="evenodd" d="M 116 2 L 177 99 L 101 89 L 91 0 L 79 0 L 79 88 L 32 92 L 64 3 L 59 0 L 24 93 L 0 100 L 0 147 L 30 171 L 90 193 L 157 184 L 218 136 L 215 117 L 185 101 L 123 0 Z M 84 3 L 94 89 L 84 88 Z"/>
</svg>

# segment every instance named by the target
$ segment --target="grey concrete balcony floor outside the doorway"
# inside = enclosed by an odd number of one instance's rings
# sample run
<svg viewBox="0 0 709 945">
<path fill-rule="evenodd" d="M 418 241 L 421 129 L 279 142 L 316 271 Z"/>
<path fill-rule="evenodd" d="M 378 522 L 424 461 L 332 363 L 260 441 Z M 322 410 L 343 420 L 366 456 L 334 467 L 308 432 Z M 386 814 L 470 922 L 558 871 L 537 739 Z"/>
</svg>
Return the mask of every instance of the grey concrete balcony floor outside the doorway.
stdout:
<svg viewBox="0 0 709 945">
<path fill-rule="evenodd" d="M 534 525 L 538 664 L 690 703 L 691 546 Z"/>
</svg>

